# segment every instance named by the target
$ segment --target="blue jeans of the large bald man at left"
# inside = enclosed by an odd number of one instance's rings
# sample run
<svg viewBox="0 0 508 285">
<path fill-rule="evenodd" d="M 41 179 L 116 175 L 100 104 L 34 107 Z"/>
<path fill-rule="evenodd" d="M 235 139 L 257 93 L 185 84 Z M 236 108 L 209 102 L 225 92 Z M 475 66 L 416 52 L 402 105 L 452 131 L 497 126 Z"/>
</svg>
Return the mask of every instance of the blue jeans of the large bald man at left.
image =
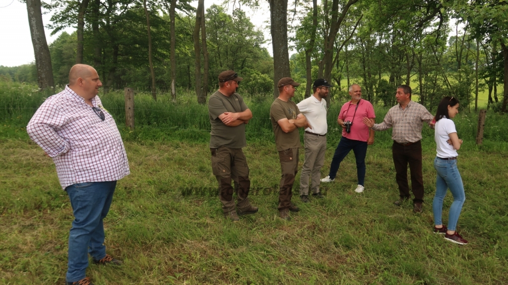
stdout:
<svg viewBox="0 0 508 285">
<path fill-rule="evenodd" d="M 69 233 L 69 263 L 66 279 L 79 281 L 86 277 L 88 254 L 93 260 L 106 257 L 104 226 L 116 181 L 86 182 L 68 186 L 65 190 L 71 200 L 74 221 Z"/>
</svg>

